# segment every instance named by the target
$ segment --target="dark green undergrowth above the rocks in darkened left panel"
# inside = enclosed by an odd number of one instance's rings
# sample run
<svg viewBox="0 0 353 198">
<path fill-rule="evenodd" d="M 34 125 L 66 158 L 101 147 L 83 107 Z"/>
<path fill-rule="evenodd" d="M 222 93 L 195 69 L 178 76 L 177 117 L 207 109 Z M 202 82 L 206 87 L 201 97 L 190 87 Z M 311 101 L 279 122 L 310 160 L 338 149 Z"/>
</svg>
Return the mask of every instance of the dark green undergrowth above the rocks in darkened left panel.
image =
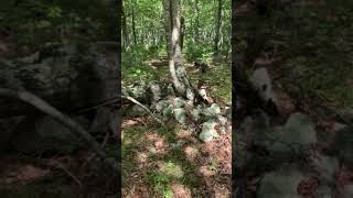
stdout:
<svg viewBox="0 0 353 198">
<path fill-rule="evenodd" d="M 6 34 L 1 40 L 23 53 L 46 42 L 107 40 L 113 36 L 113 29 L 116 34 L 115 18 L 107 6 L 95 0 L 0 2 L 0 32 Z"/>
</svg>

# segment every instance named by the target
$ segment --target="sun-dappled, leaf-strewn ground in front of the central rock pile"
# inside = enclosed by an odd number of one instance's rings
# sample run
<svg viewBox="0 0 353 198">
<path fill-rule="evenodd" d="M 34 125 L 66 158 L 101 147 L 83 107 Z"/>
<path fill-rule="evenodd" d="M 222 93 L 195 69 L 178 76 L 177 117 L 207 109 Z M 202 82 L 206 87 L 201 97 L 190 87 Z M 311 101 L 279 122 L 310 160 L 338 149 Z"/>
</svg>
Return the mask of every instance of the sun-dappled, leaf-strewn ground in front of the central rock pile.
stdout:
<svg viewBox="0 0 353 198">
<path fill-rule="evenodd" d="M 131 125 L 122 133 L 124 197 L 229 195 L 231 133 L 208 143 L 179 124 Z"/>
</svg>

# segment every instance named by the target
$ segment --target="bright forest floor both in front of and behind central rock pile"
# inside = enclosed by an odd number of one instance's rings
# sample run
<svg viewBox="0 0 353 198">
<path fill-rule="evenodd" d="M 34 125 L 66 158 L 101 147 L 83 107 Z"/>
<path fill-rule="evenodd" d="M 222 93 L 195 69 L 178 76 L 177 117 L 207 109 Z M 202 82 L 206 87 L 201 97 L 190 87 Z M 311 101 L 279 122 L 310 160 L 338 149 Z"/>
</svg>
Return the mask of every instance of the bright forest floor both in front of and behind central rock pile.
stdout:
<svg viewBox="0 0 353 198">
<path fill-rule="evenodd" d="M 149 79 L 168 79 L 168 63 L 147 70 Z M 150 64 L 151 65 L 151 64 Z M 207 86 L 217 103 L 232 101 L 229 64 L 211 65 L 201 74 L 191 63 L 186 70 L 193 84 Z M 141 69 L 143 69 L 141 68 Z M 122 72 L 124 74 L 124 72 Z M 122 75 L 124 76 L 124 75 Z M 136 78 L 136 77 L 135 77 Z M 224 79 L 220 81 L 220 79 Z M 125 75 L 122 82 L 136 81 Z M 156 125 L 149 117 L 125 117 L 122 122 L 122 195 L 124 197 L 229 197 L 232 175 L 232 138 L 227 132 L 203 143 L 197 134 L 169 121 L 167 129 Z"/>
</svg>

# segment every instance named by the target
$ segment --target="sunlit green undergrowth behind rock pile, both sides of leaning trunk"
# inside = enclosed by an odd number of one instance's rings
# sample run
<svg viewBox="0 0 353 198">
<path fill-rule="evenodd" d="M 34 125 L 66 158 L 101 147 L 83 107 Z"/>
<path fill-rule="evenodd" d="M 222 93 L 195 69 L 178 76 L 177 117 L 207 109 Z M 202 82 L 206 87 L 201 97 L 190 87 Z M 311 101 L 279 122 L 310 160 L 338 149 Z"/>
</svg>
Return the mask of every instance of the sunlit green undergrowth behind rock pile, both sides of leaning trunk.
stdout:
<svg viewBox="0 0 353 198">
<path fill-rule="evenodd" d="M 139 54 L 139 53 L 137 53 Z M 143 53 L 142 53 L 143 54 Z M 170 81 L 170 73 L 168 63 L 163 66 L 152 68 L 147 65 L 147 59 L 158 59 L 159 57 L 147 56 L 141 57 L 142 54 L 135 53 L 122 54 L 122 86 L 131 85 L 138 81 Z M 192 62 L 185 64 L 188 75 L 192 79 L 192 84 L 197 85 L 203 81 L 210 87 L 207 92 L 211 97 L 218 98 L 224 102 L 232 101 L 232 69 L 231 64 L 215 63 L 210 64 L 212 69 L 201 74 L 195 72 L 192 67 Z"/>
</svg>

